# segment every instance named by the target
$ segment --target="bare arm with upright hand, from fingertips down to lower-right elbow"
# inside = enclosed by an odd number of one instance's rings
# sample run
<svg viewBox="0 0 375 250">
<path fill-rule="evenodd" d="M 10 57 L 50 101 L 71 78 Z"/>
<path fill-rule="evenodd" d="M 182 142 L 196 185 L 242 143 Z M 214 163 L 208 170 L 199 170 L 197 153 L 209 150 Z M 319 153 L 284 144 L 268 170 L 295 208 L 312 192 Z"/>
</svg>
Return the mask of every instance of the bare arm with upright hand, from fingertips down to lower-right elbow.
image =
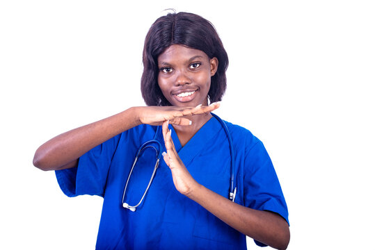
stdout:
<svg viewBox="0 0 375 250">
<path fill-rule="evenodd" d="M 179 192 L 250 238 L 276 249 L 287 249 L 290 233 L 285 219 L 275 213 L 241 206 L 197 183 L 179 158 L 170 133 L 168 121 L 164 122 L 163 138 L 167 153 L 163 157 Z"/>
</svg>

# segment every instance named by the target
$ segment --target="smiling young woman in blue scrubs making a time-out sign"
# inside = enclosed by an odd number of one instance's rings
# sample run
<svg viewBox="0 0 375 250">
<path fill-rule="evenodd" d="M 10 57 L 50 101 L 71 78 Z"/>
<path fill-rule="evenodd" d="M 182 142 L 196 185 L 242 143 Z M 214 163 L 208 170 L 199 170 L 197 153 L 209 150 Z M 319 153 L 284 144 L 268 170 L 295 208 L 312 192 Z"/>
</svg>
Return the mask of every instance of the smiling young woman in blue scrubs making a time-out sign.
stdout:
<svg viewBox="0 0 375 250">
<path fill-rule="evenodd" d="M 212 24 L 186 12 L 160 17 L 143 65 L 147 106 L 35 152 L 33 164 L 56 170 L 67 196 L 104 197 L 97 249 L 246 249 L 245 235 L 286 249 L 287 205 L 266 149 L 211 113 L 228 67 Z"/>
</svg>

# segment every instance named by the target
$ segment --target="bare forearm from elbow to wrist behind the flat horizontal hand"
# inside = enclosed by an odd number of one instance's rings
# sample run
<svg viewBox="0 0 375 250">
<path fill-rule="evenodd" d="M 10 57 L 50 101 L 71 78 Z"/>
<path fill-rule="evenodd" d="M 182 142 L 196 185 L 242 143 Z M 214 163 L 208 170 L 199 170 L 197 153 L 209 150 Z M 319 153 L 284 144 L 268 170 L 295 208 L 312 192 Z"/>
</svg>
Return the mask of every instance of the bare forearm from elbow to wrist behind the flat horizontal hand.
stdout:
<svg viewBox="0 0 375 250">
<path fill-rule="evenodd" d="M 73 167 L 74 162 L 97 145 L 139 124 L 135 108 L 98 122 L 75 128 L 42 144 L 35 152 L 33 164 L 42 170 Z"/>
</svg>

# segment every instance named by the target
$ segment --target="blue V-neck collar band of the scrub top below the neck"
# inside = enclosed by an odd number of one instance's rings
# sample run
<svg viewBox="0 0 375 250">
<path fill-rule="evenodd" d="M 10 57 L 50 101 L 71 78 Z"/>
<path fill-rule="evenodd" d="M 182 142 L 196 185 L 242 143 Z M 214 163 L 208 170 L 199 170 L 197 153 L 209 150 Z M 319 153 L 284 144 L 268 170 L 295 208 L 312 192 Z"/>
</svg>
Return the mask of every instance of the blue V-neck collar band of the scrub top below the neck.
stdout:
<svg viewBox="0 0 375 250">
<path fill-rule="evenodd" d="M 179 142 L 177 133 L 172 125 L 169 125 L 169 129 L 172 129 L 172 140 L 179 158 L 187 166 L 198 153 L 214 144 L 214 138 L 221 131 L 222 126 L 215 117 L 211 117 L 184 147 Z"/>
</svg>

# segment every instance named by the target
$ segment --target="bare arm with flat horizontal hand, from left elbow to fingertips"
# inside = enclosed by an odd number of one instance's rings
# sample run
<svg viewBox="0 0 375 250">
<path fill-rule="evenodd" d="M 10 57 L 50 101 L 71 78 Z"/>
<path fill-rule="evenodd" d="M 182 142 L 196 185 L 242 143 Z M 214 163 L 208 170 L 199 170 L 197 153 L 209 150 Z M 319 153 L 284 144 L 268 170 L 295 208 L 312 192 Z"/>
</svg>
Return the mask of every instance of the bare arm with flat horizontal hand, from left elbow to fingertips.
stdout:
<svg viewBox="0 0 375 250">
<path fill-rule="evenodd" d="M 171 124 L 189 126 L 189 115 L 210 113 L 218 104 L 196 108 L 133 107 L 98 122 L 75 128 L 42 144 L 35 152 L 33 165 L 42 170 L 75 167 L 84 153 L 97 145 L 139 124 L 161 125 L 170 119 Z"/>
</svg>

